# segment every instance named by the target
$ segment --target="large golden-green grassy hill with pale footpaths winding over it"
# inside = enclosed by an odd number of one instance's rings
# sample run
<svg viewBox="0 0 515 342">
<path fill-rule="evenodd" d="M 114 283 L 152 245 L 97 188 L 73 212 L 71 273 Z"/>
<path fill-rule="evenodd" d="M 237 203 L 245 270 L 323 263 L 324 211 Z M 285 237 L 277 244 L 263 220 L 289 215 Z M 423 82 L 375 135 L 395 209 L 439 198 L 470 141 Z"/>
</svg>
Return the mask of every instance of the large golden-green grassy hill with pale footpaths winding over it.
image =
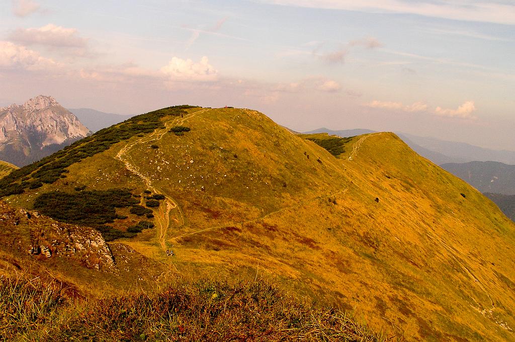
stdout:
<svg viewBox="0 0 515 342">
<path fill-rule="evenodd" d="M 130 189 L 155 228 L 111 246 L 176 275 L 263 277 L 408 340 L 515 340 L 515 226 L 490 200 L 392 133 L 311 138 L 252 110 L 167 108 L 0 185 L 15 207 Z M 126 231 L 113 208 L 101 226 Z"/>
</svg>

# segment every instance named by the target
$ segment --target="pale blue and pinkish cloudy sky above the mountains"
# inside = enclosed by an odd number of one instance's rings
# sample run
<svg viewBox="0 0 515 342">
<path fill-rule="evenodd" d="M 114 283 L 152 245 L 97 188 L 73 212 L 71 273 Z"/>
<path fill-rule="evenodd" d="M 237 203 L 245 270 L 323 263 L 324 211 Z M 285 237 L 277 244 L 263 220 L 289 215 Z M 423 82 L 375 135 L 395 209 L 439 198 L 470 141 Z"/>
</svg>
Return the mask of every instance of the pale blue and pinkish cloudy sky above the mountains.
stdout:
<svg viewBox="0 0 515 342">
<path fill-rule="evenodd" d="M 39 94 L 515 150 L 515 0 L 2 0 L 0 107 Z"/>
</svg>

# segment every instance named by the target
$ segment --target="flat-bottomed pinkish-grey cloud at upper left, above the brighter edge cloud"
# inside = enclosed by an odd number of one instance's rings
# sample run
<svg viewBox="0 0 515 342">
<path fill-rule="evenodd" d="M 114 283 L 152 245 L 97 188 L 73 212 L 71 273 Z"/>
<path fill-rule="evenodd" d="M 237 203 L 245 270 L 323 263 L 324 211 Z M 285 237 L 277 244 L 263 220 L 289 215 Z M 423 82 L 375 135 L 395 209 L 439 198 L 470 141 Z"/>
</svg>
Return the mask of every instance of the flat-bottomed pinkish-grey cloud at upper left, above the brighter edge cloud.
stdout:
<svg viewBox="0 0 515 342">
<path fill-rule="evenodd" d="M 19 28 L 11 33 L 10 40 L 25 45 L 51 47 L 85 47 L 87 40 L 80 37 L 77 29 L 48 24 L 39 28 Z"/>
</svg>

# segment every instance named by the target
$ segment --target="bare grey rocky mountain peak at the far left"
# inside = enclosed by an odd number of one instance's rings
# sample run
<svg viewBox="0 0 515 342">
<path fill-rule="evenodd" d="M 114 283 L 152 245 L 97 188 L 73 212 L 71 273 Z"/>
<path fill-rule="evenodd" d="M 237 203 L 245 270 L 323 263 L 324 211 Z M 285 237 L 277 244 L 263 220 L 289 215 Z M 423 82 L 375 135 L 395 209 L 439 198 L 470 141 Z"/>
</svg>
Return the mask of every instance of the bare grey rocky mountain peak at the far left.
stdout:
<svg viewBox="0 0 515 342">
<path fill-rule="evenodd" d="M 29 164 L 89 134 L 79 119 L 52 96 L 0 108 L 0 159 Z"/>
</svg>

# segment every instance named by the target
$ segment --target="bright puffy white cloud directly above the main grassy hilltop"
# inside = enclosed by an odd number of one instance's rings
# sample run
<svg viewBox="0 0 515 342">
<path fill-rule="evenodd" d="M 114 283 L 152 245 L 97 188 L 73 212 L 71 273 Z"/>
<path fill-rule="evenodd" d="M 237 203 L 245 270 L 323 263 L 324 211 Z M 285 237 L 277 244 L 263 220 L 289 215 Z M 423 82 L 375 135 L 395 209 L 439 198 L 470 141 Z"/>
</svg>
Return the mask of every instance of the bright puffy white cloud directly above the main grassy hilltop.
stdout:
<svg viewBox="0 0 515 342">
<path fill-rule="evenodd" d="M 161 72 L 172 81 L 215 81 L 218 71 L 209 64 L 208 57 L 202 57 L 195 63 L 191 59 L 173 57 L 168 65 L 161 68 Z"/>
</svg>

